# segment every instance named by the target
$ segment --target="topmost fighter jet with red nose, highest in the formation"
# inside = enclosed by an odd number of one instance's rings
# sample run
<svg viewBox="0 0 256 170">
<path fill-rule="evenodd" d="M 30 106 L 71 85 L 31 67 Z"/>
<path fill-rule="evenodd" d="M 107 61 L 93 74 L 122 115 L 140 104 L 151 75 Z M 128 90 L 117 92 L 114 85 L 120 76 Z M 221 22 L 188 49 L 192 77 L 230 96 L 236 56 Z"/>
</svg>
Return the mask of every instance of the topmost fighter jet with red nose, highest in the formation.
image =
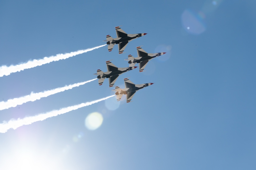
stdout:
<svg viewBox="0 0 256 170">
<path fill-rule="evenodd" d="M 110 35 L 107 35 L 107 40 L 104 40 L 104 41 L 107 41 L 108 51 L 112 51 L 114 45 L 118 44 L 119 54 L 124 52 L 125 47 L 127 46 L 128 42 L 147 34 L 147 33 L 127 34 L 120 27 L 115 27 L 115 28 L 116 28 L 117 38 L 113 39 Z"/>
</svg>

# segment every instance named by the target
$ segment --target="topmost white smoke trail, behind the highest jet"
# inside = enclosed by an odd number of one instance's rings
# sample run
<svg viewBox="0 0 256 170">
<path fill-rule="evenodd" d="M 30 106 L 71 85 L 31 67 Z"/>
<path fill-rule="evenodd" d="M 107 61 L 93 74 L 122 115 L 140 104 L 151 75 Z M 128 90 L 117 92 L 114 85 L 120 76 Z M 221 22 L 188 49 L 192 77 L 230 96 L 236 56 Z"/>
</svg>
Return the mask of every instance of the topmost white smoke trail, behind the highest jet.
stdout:
<svg viewBox="0 0 256 170">
<path fill-rule="evenodd" d="M 97 49 L 97 48 L 100 48 L 100 47 L 103 47 L 106 45 L 107 44 L 102 45 L 102 46 L 97 46 L 94 48 L 88 48 L 86 50 L 78 50 L 78 51 L 66 53 L 66 54 L 57 54 L 55 56 L 44 57 L 43 59 L 28 61 L 26 63 L 17 64 L 17 65 L 10 65 L 10 66 L 3 65 L 0 67 L 0 77 L 3 77 L 4 75 L 6 75 L 6 76 L 10 75 L 11 73 L 20 72 L 25 69 L 30 69 L 30 68 L 33 68 L 33 67 L 36 67 L 39 65 L 47 64 L 47 63 L 50 63 L 53 61 L 64 60 L 69 57 L 73 57 L 78 54 L 86 53 L 88 51 L 92 51 L 94 49 Z"/>
</svg>

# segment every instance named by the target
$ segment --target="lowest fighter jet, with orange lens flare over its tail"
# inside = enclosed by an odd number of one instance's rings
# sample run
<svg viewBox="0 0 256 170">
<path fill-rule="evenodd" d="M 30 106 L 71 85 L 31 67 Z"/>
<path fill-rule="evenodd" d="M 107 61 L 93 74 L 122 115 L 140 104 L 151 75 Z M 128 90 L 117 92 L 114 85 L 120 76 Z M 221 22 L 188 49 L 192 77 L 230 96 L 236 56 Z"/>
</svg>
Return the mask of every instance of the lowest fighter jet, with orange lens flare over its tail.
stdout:
<svg viewBox="0 0 256 170">
<path fill-rule="evenodd" d="M 146 83 L 146 84 L 134 84 L 132 83 L 128 78 L 124 79 L 125 81 L 125 88 L 121 89 L 120 87 L 116 86 L 116 89 L 113 90 L 116 92 L 116 99 L 117 101 L 120 101 L 122 95 L 126 95 L 126 103 L 129 103 L 134 96 L 135 92 L 137 92 L 139 89 L 142 89 L 144 87 L 150 86 L 154 83 Z"/>
</svg>

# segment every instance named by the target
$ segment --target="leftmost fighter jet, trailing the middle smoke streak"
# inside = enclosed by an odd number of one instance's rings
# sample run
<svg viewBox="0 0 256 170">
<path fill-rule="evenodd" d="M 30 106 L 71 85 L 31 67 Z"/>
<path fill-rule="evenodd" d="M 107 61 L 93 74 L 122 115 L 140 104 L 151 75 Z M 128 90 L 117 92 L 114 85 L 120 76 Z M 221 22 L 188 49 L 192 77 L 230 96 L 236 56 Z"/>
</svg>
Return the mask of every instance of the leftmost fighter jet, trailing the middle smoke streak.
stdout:
<svg viewBox="0 0 256 170">
<path fill-rule="evenodd" d="M 124 68 L 118 68 L 117 66 L 115 66 L 114 64 L 112 64 L 110 61 L 106 61 L 107 64 L 107 72 L 103 72 L 101 70 L 97 70 L 97 73 L 95 73 L 94 75 L 98 75 L 97 78 L 99 79 L 99 85 L 102 85 L 102 83 L 104 82 L 105 78 L 109 78 L 109 87 L 112 87 L 116 80 L 117 77 L 127 71 L 130 71 L 132 69 L 135 69 L 137 67 L 124 67 Z"/>
</svg>

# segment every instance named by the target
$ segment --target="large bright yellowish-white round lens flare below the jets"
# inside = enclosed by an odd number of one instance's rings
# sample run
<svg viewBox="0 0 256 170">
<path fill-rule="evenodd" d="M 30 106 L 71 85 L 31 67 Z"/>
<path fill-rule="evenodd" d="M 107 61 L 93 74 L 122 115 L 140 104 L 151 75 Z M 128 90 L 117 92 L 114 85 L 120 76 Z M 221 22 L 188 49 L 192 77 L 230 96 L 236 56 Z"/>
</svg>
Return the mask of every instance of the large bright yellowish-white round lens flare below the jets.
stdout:
<svg viewBox="0 0 256 170">
<path fill-rule="evenodd" d="M 89 130 L 98 129 L 103 122 L 103 116 L 98 112 L 90 113 L 85 118 L 85 126 Z"/>
</svg>

